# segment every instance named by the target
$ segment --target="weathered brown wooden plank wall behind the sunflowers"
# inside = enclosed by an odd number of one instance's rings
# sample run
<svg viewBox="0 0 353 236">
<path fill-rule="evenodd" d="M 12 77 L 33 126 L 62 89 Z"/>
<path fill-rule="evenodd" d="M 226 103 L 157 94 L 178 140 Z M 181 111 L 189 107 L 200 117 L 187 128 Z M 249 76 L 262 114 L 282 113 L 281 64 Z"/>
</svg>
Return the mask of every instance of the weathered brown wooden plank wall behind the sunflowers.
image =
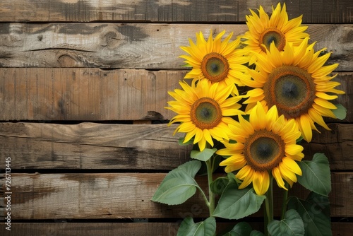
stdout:
<svg viewBox="0 0 353 236">
<path fill-rule="evenodd" d="M 330 160 L 334 235 L 353 228 L 353 3 L 292 0 L 316 49 L 333 52 L 339 102 L 347 119 L 330 120 L 305 154 Z M 189 160 L 174 114 L 164 109 L 179 88 L 188 38 L 247 28 L 249 8 L 277 1 L 1 0 L 0 169 L 11 157 L 11 232 L 0 235 L 176 235 L 181 218 L 203 218 L 199 196 L 181 206 L 150 201 L 169 170 Z M 205 184 L 202 177 L 199 181 Z M 299 187 L 293 194 L 305 196 Z M 260 228 L 260 214 L 251 216 Z M 220 223 L 227 228 L 232 223 Z"/>
</svg>

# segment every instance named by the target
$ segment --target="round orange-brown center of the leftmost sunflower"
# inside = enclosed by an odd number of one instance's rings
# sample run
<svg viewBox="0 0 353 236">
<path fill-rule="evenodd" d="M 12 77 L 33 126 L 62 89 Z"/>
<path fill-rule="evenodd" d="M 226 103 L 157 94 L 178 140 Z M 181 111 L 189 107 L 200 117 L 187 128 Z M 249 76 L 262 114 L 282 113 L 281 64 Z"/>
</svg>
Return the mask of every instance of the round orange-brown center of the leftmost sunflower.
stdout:
<svg viewBox="0 0 353 236">
<path fill-rule="evenodd" d="M 212 98 L 200 98 L 191 105 L 190 117 L 199 129 L 213 129 L 222 121 L 222 110 Z"/>
</svg>

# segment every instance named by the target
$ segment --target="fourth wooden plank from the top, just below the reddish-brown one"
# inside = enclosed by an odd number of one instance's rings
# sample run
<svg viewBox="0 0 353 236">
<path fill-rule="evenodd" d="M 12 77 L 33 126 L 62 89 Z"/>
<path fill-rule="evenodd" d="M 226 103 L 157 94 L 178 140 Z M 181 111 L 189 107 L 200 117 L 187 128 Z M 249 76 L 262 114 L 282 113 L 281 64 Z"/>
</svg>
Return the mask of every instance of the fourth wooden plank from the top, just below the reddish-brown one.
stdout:
<svg viewBox="0 0 353 236">
<path fill-rule="evenodd" d="M 329 124 L 302 142 L 306 159 L 325 153 L 331 170 L 353 170 L 353 124 Z M 13 169 L 172 170 L 189 160 L 191 146 L 172 136 L 177 124 L 75 125 L 0 123 L 0 158 Z"/>
</svg>

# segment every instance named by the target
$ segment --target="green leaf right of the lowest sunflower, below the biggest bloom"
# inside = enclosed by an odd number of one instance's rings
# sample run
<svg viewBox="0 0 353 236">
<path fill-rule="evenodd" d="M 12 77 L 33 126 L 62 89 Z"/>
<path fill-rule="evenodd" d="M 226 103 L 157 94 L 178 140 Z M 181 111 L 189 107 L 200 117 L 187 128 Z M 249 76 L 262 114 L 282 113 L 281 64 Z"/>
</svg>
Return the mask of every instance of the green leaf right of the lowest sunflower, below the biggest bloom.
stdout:
<svg viewBox="0 0 353 236">
<path fill-rule="evenodd" d="M 331 175 L 328 158 L 323 153 L 315 153 L 313 160 L 298 163 L 303 175 L 298 176 L 299 184 L 317 194 L 328 196 L 331 191 Z"/>
</svg>

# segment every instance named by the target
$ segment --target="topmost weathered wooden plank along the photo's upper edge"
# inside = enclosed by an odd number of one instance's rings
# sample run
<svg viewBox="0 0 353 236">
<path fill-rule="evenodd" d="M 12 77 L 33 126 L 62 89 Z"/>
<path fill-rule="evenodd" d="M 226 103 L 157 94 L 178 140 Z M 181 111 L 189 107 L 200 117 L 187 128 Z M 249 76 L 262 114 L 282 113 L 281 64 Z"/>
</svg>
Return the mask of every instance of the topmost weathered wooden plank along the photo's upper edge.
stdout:
<svg viewBox="0 0 353 236">
<path fill-rule="evenodd" d="M 303 14 L 304 22 L 353 22 L 352 4 L 342 1 L 285 1 L 291 18 Z M 239 22 L 249 8 L 262 5 L 270 12 L 277 1 L 78 1 L 78 0 L 2 0 L 0 21 L 164 21 Z"/>
</svg>

